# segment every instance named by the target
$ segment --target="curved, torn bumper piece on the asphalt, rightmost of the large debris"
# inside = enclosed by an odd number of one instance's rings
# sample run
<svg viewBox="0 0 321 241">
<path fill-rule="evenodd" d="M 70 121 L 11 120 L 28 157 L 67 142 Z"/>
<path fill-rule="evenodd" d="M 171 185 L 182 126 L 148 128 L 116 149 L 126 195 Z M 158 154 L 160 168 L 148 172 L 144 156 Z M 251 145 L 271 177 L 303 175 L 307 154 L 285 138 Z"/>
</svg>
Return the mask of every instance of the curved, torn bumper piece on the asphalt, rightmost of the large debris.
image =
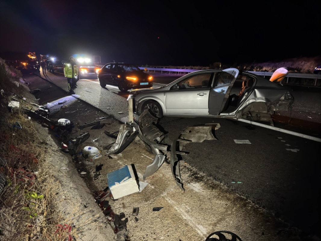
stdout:
<svg viewBox="0 0 321 241">
<path fill-rule="evenodd" d="M 203 142 L 204 140 L 217 140 L 212 133 L 212 130 L 217 130 L 220 124 L 208 124 L 204 126 L 193 126 L 184 129 L 173 141 L 170 155 L 170 168 L 176 184 L 180 189 L 185 191 L 183 187 L 182 177 L 179 170 L 179 161 L 182 160 L 182 155 L 188 154 L 183 152 L 183 148 L 191 142 Z"/>
</svg>

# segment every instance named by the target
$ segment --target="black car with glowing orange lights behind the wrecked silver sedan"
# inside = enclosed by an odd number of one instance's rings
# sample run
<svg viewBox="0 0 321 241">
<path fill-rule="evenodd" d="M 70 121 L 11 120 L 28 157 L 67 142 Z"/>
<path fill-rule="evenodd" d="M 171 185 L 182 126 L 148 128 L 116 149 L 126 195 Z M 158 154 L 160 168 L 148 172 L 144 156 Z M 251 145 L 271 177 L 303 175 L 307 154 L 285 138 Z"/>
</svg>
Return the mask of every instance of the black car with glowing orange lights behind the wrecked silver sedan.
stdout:
<svg viewBox="0 0 321 241">
<path fill-rule="evenodd" d="M 149 88 L 153 86 L 152 76 L 131 64 L 109 63 L 98 71 L 101 87 L 116 85 L 122 92 L 129 89 Z"/>
</svg>

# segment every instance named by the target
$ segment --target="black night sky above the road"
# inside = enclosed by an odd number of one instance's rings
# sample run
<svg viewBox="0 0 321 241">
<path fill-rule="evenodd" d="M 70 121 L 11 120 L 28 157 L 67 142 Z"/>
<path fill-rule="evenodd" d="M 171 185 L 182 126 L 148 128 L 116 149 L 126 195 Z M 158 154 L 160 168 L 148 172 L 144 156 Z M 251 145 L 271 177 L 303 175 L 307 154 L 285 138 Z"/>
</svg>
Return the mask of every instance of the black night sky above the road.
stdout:
<svg viewBox="0 0 321 241">
<path fill-rule="evenodd" d="M 173 2 L 0 0 L 0 57 L 209 66 L 320 55 L 319 0 Z"/>
</svg>

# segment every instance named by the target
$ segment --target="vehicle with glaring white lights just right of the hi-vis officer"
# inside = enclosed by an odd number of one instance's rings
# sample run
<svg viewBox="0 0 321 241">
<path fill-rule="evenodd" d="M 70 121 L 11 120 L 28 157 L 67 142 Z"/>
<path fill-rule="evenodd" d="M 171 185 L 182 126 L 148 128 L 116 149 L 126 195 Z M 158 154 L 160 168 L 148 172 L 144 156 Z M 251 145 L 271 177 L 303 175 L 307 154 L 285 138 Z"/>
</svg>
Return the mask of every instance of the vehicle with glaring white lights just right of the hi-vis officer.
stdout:
<svg viewBox="0 0 321 241">
<path fill-rule="evenodd" d="M 84 54 L 75 54 L 73 57 L 78 66 L 79 78 L 98 74 L 100 70 L 100 56 L 90 57 Z"/>
</svg>

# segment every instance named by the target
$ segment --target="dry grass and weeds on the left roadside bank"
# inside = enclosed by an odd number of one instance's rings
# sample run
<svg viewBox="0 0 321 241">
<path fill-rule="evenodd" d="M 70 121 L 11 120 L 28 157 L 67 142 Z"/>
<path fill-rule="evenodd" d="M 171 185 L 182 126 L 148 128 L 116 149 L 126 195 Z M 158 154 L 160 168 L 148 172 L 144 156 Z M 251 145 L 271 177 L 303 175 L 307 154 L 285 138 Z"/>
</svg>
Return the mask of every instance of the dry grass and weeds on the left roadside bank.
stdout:
<svg viewBox="0 0 321 241">
<path fill-rule="evenodd" d="M 20 78 L 0 58 L 0 240 L 71 241 L 77 230 L 56 207 L 60 184 L 46 162 L 44 129 L 23 111 L 34 106 L 23 100 Z M 20 108 L 7 107 L 12 97 Z"/>
</svg>

